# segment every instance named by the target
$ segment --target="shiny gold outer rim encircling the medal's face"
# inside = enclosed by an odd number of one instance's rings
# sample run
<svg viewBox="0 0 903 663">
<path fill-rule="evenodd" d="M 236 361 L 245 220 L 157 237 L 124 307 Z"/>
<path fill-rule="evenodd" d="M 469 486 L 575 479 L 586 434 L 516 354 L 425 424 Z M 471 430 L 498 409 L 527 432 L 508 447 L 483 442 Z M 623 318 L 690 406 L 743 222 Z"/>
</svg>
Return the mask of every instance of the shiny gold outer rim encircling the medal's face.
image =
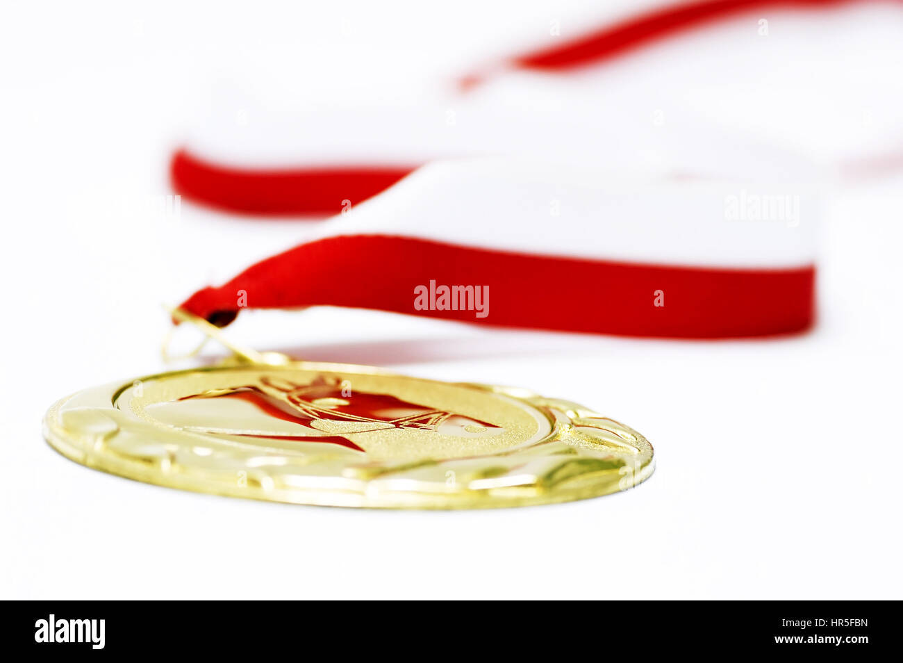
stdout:
<svg viewBox="0 0 903 663">
<path fill-rule="evenodd" d="M 192 373 L 210 373 L 219 371 L 283 371 L 303 370 L 321 371 L 330 373 L 349 373 L 386 378 L 405 378 L 444 386 L 473 389 L 487 392 L 495 396 L 513 399 L 517 405 L 535 411 L 540 416 L 549 420 L 550 431 L 544 438 L 531 444 L 546 444 L 548 442 L 563 442 L 569 446 L 577 444 L 578 447 L 592 444 L 585 435 L 578 431 L 593 426 L 593 420 L 606 422 L 606 427 L 601 428 L 607 434 L 612 433 L 612 428 L 618 429 L 618 433 L 626 434 L 625 444 L 637 449 L 639 461 L 634 469 L 625 474 L 622 472 L 627 464 L 619 468 L 610 468 L 606 471 L 588 472 L 585 476 L 576 475 L 568 479 L 570 485 L 544 487 L 534 484 L 532 487 L 511 486 L 505 488 L 492 488 L 488 491 L 463 488 L 448 493 L 427 492 L 423 490 L 377 490 L 371 493 L 371 481 L 364 481 L 364 490 L 339 490 L 330 488 L 327 490 L 290 488 L 264 488 L 260 486 L 239 486 L 235 481 L 218 481 L 210 477 L 203 478 L 186 472 L 165 472 L 157 464 L 142 466 L 134 458 L 122 456 L 117 453 L 104 452 L 107 434 L 93 434 L 94 444 L 88 444 L 84 439 L 92 434 L 86 431 L 67 430 L 61 422 L 61 415 L 67 411 L 67 405 L 74 397 L 86 395 L 89 392 L 101 392 L 109 390 L 109 403 L 97 406 L 99 410 L 109 409 L 124 412 L 116 407 L 117 398 L 138 381 L 150 381 L 166 378 L 178 378 Z M 131 414 L 131 413 L 129 413 Z M 132 415 L 134 416 L 134 415 Z M 115 435 L 119 432 L 119 426 L 109 432 Z M 184 432 L 188 436 L 188 432 Z M 291 504 L 304 504 L 312 506 L 356 507 L 372 509 L 496 509 L 507 507 L 535 506 L 541 504 L 554 504 L 573 500 L 583 500 L 599 497 L 621 490 L 628 490 L 642 481 L 646 481 L 655 470 L 654 450 L 647 439 L 626 425 L 591 411 L 589 408 L 579 406 L 571 401 L 545 398 L 523 388 L 507 388 L 497 385 L 485 385 L 470 382 L 451 382 L 435 380 L 431 378 L 419 378 L 397 373 L 395 371 L 380 369 L 372 366 L 357 364 L 344 364 L 338 362 L 319 361 L 291 361 L 283 365 L 247 364 L 228 360 L 226 362 L 197 368 L 181 369 L 175 371 L 163 371 L 143 378 L 132 378 L 126 381 L 107 383 L 97 388 L 83 389 L 68 397 L 61 398 L 47 411 L 43 419 L 43 436 L 54 451 L 78 462 L 88 468 L 107 472 L 133 481 L 142 481 L 166 488 L 190 490 L 206 494 L 224 495 L 228 497 L 240 497 L 252 500 L 275 501 Z M 573 444 L 572 444 L 573 443 Z M 94 447 L 94 448 L 92 448 Z M 601 451 L 598 450 L 598 451 Z M 579 449 L 578 452 L 579 453 Z M 260 455 L 260 453 L 256 453 Z M 485 457 L 491 462 L 495 454 L 487 454 Z M 454 459 L 453 459 L 454 460 Z M 440 461 L 442 462 L 442 461 Z"/>
</svg>

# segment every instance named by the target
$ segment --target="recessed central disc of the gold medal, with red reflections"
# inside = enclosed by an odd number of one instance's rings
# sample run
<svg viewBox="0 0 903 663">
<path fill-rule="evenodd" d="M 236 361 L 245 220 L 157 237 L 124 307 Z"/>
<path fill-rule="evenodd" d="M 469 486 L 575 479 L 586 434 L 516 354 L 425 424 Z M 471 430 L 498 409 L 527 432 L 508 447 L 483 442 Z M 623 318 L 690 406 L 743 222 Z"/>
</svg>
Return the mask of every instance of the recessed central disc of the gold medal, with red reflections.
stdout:
<svg viewBox="0 0 903 663">
<path fill-rule="evenodd" d="M 368 462 L 461 458 L 530 444 L 551 430 L 500 394 L 380 374 L 234 369 L 158 378 L 115 406 L 148 423 L 260 452 L 366 454 Z"/>
</svg>

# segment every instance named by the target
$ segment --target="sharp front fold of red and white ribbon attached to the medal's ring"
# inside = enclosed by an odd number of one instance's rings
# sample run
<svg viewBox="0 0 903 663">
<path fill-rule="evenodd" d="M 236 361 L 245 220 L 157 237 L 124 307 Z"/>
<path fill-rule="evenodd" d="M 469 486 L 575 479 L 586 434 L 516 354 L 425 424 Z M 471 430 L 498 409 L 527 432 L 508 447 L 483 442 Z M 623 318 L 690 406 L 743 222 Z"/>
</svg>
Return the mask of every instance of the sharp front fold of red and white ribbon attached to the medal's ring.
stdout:
<svg viewBox="0 0 903 663">
<path fill-rule="evenodd" d="M 336 305 L 674 338 L 814 322 L 814 195 L 550 170 L 424 166 L 182 307 L 217 324 L 245 307 Z"/>
</svg>

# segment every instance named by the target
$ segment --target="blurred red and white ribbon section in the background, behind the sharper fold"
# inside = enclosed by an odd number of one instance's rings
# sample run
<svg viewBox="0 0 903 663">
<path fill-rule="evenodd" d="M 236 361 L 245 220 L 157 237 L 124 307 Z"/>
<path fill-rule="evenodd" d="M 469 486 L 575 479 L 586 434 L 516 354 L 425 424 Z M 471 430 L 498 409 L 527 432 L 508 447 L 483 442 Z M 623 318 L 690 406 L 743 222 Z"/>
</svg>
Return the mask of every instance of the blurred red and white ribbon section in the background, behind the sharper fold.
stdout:
<svg viewBox="0 0 903 663">
<path fill-rule="evenodd" d="M 671 2 L 565 24 L 418 107 L 259 108 L 239 125 L 222 108 L 174 155 L 172 182 L 222 210 L 322 216 L 469 155 L 762 178 L 788 167 L 768 154 L 796 152 L 821 179 L 880 173 L 903 163 L 903 77 L 887 73 L 901 32 L 899 2 Z"/>
</svg>

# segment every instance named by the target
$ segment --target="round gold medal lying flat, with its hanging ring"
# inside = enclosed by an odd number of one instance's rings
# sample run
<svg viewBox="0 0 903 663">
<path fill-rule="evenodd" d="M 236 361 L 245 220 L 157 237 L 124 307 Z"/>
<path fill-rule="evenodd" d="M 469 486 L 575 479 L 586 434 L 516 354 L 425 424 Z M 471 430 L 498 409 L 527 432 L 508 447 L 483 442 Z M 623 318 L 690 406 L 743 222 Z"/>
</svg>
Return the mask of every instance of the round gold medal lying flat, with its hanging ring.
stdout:
<svg viewBox="0 0 903 663">
<path fill-rule="evenodd" d="M 653 471 L 642 435 L 569 401 L 248 350 L 79 392 L 44 431 L 71 460 L 129 479 L 324 506 L 548 504 Z"/>
</svg>

